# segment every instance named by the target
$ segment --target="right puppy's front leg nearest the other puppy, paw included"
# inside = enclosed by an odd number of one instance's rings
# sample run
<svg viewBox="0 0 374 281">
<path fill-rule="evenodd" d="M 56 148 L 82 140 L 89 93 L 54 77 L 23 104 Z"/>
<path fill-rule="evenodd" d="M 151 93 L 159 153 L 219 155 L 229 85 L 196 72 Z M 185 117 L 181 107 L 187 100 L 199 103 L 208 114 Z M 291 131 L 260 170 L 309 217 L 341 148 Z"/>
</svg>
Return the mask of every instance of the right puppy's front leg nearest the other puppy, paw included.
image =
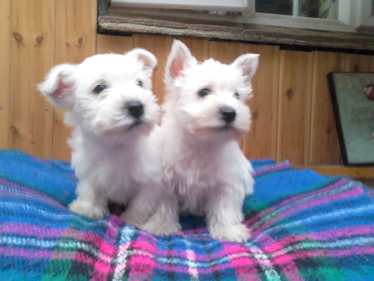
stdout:
<svg viewBox="0 0 374 281">
<path fill-rule="evenodd" d="M 163 196 L 156 212 L 141 229 L 155 235 L 173 235 L 180 231 L 182 227 L 179 223 L 177 196 Z"/>
</svg>

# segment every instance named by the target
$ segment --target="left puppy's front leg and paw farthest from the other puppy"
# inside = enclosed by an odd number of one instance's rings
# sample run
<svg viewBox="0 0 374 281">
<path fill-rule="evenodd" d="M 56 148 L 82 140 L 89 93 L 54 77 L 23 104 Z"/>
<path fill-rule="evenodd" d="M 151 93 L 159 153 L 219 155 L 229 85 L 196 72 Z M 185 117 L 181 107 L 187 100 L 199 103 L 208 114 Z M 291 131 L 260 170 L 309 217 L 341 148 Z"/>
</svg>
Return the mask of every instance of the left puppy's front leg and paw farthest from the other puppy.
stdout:
<svg viewBox="0 0 374 281">
<path fill-rule="evenodd" d="M 77 199 L 70 205 L 70 211 L 89 218 L 102 218 L 108 213 L 107 198 L 88 181 L 82 181 L 77 187 Z"/>
</svg>

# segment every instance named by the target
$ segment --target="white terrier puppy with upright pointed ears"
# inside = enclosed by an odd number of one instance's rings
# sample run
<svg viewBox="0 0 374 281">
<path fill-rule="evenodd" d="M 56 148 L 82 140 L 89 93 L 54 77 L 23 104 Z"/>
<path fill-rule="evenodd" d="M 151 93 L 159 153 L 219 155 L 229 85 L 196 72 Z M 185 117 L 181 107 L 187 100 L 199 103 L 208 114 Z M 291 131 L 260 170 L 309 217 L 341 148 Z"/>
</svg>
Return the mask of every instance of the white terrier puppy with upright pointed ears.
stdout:
<svg viewBox="0 0 374 281">
<path fill-rule="evenodd" d="M 245 196 L 253 192 L 252 166 L 237 140 L 249 130 L 251 78 L 258 55 L 232 64 L 198 63 L 174 40 L 166 64 L 167 94 L 160 134 L 163 166 L 170 184 L 156 213 L 143 228 L 157 235 L 181 230 L 178 213 L 205 215 L 213 238 L 242 242 Z"/>
</svg>

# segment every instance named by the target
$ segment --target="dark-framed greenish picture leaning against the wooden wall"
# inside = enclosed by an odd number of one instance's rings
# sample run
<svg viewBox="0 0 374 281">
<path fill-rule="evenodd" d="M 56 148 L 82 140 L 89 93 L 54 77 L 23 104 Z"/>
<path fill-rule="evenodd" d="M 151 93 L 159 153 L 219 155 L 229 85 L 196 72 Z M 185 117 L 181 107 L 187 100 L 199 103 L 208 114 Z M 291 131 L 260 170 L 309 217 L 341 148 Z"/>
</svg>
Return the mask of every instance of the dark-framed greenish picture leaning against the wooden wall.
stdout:
<svg viewBox="0 0 374 281">
<path fill-rule="evenodd" d="M 343 164 L 374 165 L 374 72 L 327 76 Z"/>
</svg>

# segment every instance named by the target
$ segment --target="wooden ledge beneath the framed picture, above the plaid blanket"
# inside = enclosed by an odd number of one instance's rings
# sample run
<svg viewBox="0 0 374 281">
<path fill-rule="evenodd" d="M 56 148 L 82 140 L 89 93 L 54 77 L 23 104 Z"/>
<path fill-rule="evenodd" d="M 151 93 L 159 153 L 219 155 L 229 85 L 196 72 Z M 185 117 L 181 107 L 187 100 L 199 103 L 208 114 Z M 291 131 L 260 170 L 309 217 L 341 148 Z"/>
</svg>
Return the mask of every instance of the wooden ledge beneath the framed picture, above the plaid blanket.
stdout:
<svg viewBox="0 0 374 281">
<path fill-rule="evenodd" d="M 339 165 L 295 165 L 298 169 L 311 169 L 324 175 L 347 175 L 351 178 L 374 178 L 374 167 L 347 167 Z"/>
</svg>

